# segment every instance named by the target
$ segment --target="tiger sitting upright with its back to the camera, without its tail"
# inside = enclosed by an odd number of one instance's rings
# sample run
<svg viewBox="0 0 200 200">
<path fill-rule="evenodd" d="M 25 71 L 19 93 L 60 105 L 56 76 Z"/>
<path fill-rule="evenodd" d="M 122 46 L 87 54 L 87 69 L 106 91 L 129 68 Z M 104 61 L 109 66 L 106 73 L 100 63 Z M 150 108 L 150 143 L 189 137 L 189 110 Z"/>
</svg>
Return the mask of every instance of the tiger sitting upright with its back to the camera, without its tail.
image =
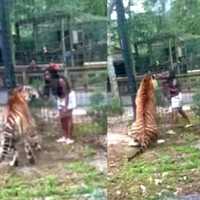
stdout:
<svg viewBox="0 0 200 200">
<path fill-rule="evenodd" d="M 158 137 L 155 104 L 156 84 L 153 76 L 145 75 L 136 94 L 136 120 L 128 134 L 133 137 L 141 149 L 146 149 Z"/>
</svg>

